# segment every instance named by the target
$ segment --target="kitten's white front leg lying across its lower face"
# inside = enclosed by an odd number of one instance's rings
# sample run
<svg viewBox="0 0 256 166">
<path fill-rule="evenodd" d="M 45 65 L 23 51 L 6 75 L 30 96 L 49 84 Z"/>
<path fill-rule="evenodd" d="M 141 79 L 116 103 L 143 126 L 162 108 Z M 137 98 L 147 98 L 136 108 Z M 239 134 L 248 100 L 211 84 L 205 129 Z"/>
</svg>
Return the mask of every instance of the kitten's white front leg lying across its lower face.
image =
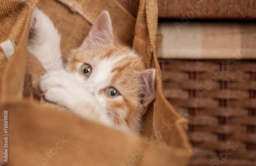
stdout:
<svg viewBox="0 0 256 166">
<path fill-rule="evenodd" d="M 108 126 L 113 124 L 73 73 L 65 70 L 50 72 L 41 77 L 40 89 L 46 100 L 66 106 L 76 115 Z"/>
</svg>

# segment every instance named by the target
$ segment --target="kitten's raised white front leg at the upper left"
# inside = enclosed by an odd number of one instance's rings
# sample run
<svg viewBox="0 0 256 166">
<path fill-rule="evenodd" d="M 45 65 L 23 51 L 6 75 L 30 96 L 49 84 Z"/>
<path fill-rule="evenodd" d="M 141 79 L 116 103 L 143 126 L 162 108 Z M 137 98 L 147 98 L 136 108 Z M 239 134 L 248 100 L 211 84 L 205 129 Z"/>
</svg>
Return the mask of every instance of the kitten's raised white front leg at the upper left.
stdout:
<svg viewBox="0 0 256 166">
<path fill-rule="evenodd" d="M 62 68 L 60 35 L 50 18 L 38 8 L 31 16 L 28 50 L 49 72 Z"/>
</svg>

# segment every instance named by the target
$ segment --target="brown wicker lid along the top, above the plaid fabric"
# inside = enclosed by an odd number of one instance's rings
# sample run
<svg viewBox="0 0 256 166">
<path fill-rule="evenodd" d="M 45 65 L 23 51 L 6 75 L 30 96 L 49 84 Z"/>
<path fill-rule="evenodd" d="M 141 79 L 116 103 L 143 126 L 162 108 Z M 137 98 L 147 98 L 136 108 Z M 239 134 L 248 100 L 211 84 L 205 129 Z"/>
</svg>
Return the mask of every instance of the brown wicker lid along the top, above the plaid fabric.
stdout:
<svg viewBox="0 0 256 166">
<path fill-rule="evenodd" d="M 117 0 L 133 16 L 137 15 L 139 0 Z M 159 18 L 255 19 L 256 1 L 158 0 Z"/>
</svg>

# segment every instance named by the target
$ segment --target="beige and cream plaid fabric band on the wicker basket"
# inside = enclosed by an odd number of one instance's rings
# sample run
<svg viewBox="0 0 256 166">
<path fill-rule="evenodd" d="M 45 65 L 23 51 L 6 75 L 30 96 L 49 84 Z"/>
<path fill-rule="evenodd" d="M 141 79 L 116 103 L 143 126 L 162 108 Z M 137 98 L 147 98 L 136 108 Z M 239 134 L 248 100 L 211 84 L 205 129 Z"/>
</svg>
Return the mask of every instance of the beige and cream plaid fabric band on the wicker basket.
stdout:
<svg viewBox="0 0 256 166">
<path fill-rule="evenodd" d="M 161 22 L 159 58 L 256 59 L 255 22 Z"/>
</svg>

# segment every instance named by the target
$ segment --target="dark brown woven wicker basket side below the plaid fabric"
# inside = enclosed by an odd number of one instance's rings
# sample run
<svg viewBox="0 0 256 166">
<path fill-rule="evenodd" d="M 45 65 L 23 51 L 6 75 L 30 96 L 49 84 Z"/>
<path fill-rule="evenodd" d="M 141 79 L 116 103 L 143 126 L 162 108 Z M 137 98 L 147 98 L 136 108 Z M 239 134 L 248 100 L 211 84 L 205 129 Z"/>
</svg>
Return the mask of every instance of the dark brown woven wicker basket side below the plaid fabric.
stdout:
<svg viewBox="0 0 256 166">
<path fill-rule="evenodd" d="M 165 97 L 189 119 L 190 165 L 256 165 L 256 61 L 159 63 Z"/>
</svg>

